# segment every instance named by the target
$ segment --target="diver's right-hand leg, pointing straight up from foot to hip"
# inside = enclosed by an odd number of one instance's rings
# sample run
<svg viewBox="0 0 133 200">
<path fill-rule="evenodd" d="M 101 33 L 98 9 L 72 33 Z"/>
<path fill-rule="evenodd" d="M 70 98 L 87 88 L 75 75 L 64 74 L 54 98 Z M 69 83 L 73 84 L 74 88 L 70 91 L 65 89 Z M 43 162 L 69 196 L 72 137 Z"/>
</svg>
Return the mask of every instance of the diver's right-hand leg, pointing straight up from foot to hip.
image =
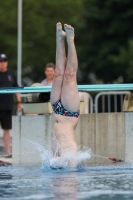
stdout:
<svg viewBox="0 0 133 200">
<path fill-rule="evenodd" d="M 66 110 L 77 112 L 80 102 L 76 78 L 78 59 L 74 44 L 74 28 L 67 24 L 64 25 L 64 28 L 68 43 L 68 56 L 63 79 L 61 102 Z"/>
</svg>

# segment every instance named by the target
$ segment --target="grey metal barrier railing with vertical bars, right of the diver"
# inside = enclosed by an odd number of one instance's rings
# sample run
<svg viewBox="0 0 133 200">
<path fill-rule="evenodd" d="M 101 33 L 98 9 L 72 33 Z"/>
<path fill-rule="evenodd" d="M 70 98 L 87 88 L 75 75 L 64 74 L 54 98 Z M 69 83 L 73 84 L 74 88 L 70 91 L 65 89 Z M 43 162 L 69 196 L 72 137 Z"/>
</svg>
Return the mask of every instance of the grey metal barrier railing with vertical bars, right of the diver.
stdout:
<svg viewBox="0 0 133 200">
<path fill-rule="evenodd" d="M 120 95 L 120 104 L 121 104 L 121 109 L 123 105 L 123 95 L 125 94 L 130 94 L 130 91 L 110 91 L 110 92 L 100 92 L 96 95 L 95 97 L 95 113 L 98 113 L 98 100 L 99 97 L 102 96 L 102 112 L 105 112 L 105 96 L 108 97 L 107 100 L 107 108 L 108 112 L 111 112 L 111 95 L 114 96 L 114 111 L 117 112 L 117 96 Z"/>
</svg>

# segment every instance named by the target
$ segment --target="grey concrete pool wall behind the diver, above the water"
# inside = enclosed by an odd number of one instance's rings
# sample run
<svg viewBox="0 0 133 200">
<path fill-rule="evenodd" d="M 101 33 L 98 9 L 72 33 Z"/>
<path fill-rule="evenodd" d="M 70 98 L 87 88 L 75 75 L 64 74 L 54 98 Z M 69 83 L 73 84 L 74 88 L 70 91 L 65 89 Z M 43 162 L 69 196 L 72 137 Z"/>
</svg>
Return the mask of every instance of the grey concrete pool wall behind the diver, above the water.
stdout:
<svg viewBox="0 0 133 200">
<path fill-rule="evenodd" d="M 52 115 L 13 116 L 13 164 L 39 164 L 40 154 L 29 141 L 51 146 Z M 92 149 L 97 155 L 133 158 L 133 113 L 83 114 L 79 117 L 76 138 L 79 146 Z M 20 154 L 19 154 L 20 153 Z M 89 163 L 108 163 L 108 160 L 92 157 Z"/>
</svg>

